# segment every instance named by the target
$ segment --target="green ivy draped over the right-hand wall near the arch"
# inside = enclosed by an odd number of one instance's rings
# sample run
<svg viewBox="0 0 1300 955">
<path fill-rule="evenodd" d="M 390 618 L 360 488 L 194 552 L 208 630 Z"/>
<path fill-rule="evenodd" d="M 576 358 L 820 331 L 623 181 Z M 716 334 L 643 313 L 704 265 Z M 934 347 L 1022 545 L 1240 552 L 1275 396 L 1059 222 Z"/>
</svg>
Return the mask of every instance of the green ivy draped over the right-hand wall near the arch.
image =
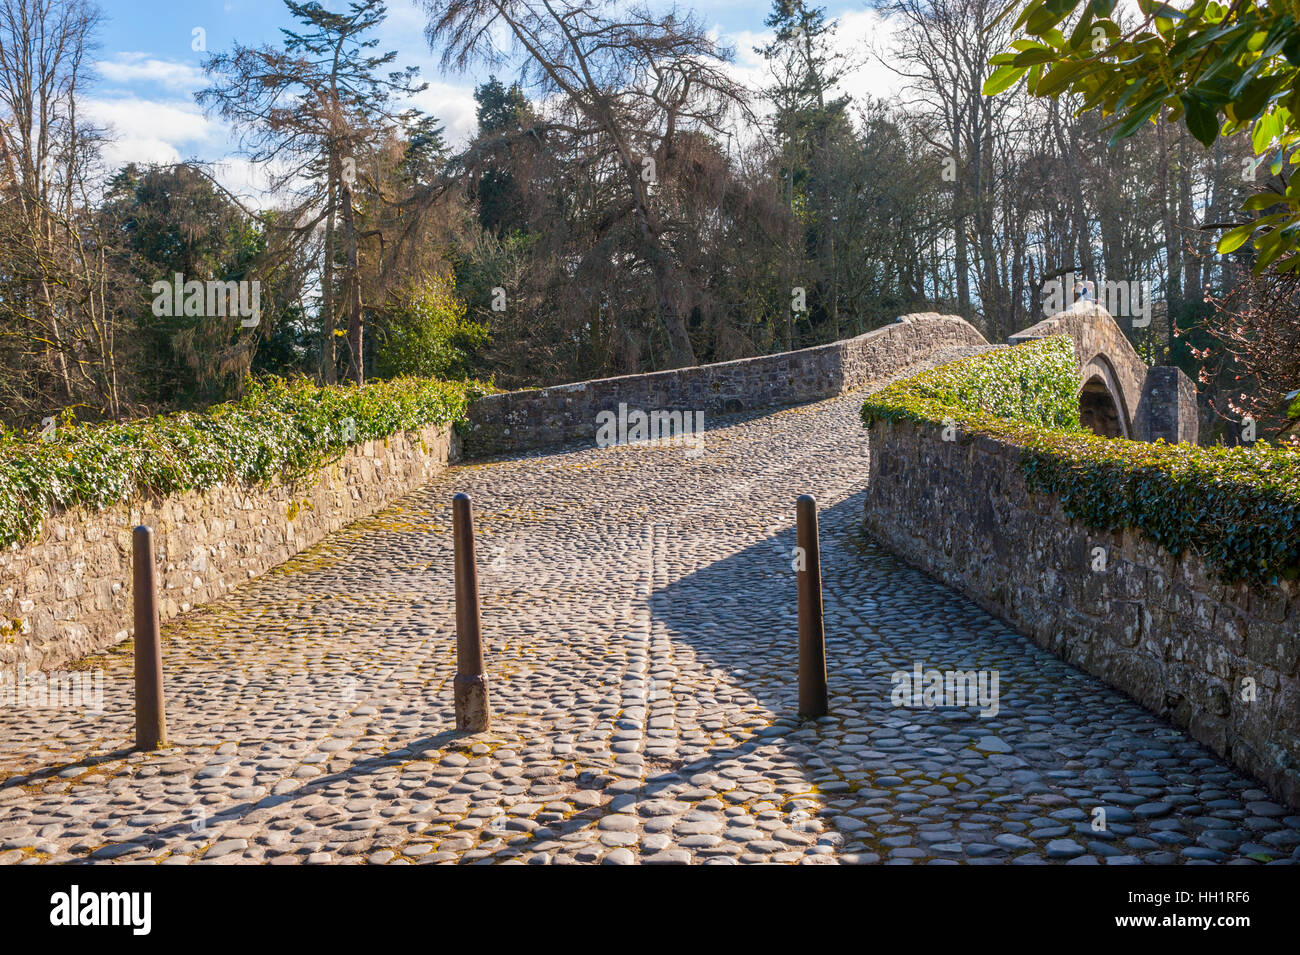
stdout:
<svg viewBox="0 0 1300 955">
<path fill-rule="evenodd" d="M 987 383 L 993 364 L 1001 386 Z M 1199 555 L 1227 582 L 1300 577 L 1300 450 L 1095 435 L 1079 427 L 1076 369 L 1067 338 L 1040 339 L 896 382 L 867 399 L 862 420 L 959 422 L 1018 446 L 1030 490 L 1089 528 L 1134 528 L 1174 556 Z M 1006 394 L 1017 387 L 1035 394 Z"/>
</svg>

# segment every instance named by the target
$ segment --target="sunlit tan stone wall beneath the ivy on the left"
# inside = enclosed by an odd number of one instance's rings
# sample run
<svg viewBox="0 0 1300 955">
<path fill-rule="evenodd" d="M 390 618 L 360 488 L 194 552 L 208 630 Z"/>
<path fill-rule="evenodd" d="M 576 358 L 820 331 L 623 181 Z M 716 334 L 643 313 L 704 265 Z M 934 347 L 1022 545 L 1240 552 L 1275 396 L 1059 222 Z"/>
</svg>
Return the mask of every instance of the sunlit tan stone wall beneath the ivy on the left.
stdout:
<svg viewBox="0 0 1300 955">
<path fill-rule="evenodd" d="M 131 529 L 153 528 L 159 609 L 170 620 L 426 483 L 459 451 L 445 425 L 370 440 L 294 485 L 221 485 L 46 518 L 0 551 L 0 673 L 55 669 L 131 630 Z"/>
</svg>

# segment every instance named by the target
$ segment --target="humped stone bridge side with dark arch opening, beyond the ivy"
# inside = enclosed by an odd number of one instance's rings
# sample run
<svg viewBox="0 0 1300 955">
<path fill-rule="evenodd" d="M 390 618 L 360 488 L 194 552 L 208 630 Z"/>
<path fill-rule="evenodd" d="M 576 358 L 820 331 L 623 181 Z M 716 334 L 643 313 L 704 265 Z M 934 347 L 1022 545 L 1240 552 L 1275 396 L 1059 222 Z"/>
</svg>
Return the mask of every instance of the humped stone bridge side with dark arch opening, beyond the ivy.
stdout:
<svg viewBox="0 0 1300 955">
<path fill-rule="evenodd" d="M 1008 340 L 1014 346 L 1050 335 L 1074 339 L 1086 427 L 1108 438 L 1196 442 L 1196 386 L 1176 368 L 1148 368 L 1106 309 L 1080 303 Z"/>
</svg>

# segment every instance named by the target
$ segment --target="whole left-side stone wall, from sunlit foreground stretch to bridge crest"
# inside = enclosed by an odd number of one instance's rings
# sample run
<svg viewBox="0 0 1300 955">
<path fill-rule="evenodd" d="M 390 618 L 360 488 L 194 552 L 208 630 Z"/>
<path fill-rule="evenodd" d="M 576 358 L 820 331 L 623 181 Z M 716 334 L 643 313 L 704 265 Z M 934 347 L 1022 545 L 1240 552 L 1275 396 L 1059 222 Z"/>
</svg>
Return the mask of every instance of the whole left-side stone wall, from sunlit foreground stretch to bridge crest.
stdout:
<svg viewBox="0 0 1300 955">
<path fill-rule="evenodd" d="M 984 344 L 967 322 L 905 316 L 859 338 L 719 365 L 494 395 L 471 409 L 477 453 L 594 438 L 595 416 L 619 401 L 641 408 L 738 411 L 840 394 L 924 360 L 937 348 Z M 131 528 L 159 539 L 164 621 L 368 517 L 463 456 L 445 426 L 367 442 L 295 486 L 221 485 L 103 512 L 46 518 L 36 543 L 0 551 L 0 674 L 53 669 L 130 635 Z"/>
</svg>

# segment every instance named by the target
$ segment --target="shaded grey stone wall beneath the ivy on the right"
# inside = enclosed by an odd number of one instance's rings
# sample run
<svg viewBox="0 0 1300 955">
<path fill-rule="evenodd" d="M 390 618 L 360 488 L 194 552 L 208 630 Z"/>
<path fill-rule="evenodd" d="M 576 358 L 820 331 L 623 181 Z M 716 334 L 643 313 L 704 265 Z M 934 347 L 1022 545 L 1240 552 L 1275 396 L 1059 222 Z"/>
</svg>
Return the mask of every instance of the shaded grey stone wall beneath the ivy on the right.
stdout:
<svg viewBox="0 0 1300 955">
<path fill-rule="evenodd" d="M 1017 446 L 941 438 L 872 426 L 868 531 L 1300 808 L 1300 582 L 1225 585 L 1195 556 L 1030 494 Z"/>
</svg>

